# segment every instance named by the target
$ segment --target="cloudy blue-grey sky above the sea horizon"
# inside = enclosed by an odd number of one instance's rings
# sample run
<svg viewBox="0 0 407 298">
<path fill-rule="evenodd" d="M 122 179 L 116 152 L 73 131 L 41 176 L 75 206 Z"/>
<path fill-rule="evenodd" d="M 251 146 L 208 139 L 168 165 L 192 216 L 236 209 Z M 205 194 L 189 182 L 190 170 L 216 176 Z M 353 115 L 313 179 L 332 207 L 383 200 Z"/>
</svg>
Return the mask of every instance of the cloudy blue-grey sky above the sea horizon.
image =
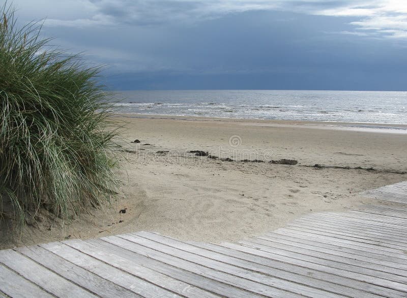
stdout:
<svg viewBox="0 0 407 298">
<path fill-rule="evenodd" d="M 405 0 L 8 3 L 115 90 L 407 90 Z"/>
</svg>

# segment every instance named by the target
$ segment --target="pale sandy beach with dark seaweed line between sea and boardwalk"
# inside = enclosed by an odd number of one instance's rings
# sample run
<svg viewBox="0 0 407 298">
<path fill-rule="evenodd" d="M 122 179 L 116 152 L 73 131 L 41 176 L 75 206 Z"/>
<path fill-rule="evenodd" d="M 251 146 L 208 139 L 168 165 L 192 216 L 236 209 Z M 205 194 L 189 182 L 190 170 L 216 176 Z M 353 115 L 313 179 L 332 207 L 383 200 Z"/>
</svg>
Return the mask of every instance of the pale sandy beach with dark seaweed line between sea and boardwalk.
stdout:
<svg viewBox="0 0 407 298">
<path fill-rule="evenodd" d="M 356 208 L 371 200 L 359 191 L 407 177 L 403 129 L 151 115 L 117 120 L 125 127 L 118 148 L 121 188 L 111 196 L 111 207 L 65 225 L 40 211 L 21 233 L 2 229 L 0 248 L 139 230 L 181 240 L 234 241 L 306 213 Z M 269 162 L 282 158 L 298 164 Z"/>
</svg>

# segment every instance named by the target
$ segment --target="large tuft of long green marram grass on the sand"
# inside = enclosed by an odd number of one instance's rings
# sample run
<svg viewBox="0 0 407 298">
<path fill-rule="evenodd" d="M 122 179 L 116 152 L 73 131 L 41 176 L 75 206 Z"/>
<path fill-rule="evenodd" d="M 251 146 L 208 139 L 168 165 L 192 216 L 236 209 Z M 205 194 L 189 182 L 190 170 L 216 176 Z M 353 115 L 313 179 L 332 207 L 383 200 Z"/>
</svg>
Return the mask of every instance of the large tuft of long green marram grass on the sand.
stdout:
<svg viewBox="0 0 407 298">
<path fill-rule="evenodd" d="M 0 215 L 9 204 L 19 223 L 42 207 L 67 220 L 109 200 L 106 191 L 117 186 L 109 94 L 99 68 L 49 49 L 41 25 L 17 28 L 14 11 L 2 11 Z"/>
</svg>

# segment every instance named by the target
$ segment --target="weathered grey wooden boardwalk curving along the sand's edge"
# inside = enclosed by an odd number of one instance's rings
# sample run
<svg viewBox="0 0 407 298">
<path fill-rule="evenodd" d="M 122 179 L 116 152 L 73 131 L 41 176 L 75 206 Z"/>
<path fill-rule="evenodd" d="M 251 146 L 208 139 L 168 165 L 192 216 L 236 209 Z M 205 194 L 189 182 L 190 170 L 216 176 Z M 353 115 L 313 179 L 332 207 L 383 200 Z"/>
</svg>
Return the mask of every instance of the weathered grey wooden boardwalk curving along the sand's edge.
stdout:
<svg viewBox="0 0 407 298">
<path fill-rule="evenodd" d="M 407 297 L 407 183 L 365 195 L 401 207 L 310 214 L 237 243 L 138 232 L 2 250 L 0 296 Z"/>
</svg>

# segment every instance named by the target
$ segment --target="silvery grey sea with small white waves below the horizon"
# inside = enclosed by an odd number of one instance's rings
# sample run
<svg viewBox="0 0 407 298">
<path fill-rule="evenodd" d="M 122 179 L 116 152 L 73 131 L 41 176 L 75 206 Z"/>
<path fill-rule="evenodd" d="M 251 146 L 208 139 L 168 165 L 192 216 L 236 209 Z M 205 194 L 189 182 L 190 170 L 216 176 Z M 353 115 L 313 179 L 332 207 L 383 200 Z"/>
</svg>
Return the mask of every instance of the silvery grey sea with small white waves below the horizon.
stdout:
<svg viewBox="0 0 407 298">
<path fill-rule="evenodd" d="M 407 92 L 121 91 L 117 113 L 407 124 Z"/>
</svg>

